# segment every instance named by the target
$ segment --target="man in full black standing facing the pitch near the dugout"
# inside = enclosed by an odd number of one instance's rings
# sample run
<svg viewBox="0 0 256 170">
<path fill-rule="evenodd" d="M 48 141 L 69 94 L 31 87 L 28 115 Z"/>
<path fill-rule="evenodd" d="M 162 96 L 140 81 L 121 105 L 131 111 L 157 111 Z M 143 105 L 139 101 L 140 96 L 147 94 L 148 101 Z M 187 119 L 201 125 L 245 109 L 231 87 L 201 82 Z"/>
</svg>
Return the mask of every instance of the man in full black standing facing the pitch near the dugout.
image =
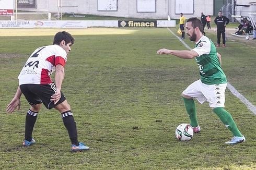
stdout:
<svg viewBox="0 0 256 170">
<path fill-rule="evenodd" d="M 226 46 L 226 34 L 225 34 L 225 28 L 226 25 L 229 23 L 229 19 L 225 16 L 223 16 L 222 11 L 219 11 L 218 17 L 215 18 L 214 22 L 217 25 L 217 47 L 219 47 L 220 44 L 220 34 L 222 34 L 222 42 L 223 42 L 223 47 Z"/>
</svg>

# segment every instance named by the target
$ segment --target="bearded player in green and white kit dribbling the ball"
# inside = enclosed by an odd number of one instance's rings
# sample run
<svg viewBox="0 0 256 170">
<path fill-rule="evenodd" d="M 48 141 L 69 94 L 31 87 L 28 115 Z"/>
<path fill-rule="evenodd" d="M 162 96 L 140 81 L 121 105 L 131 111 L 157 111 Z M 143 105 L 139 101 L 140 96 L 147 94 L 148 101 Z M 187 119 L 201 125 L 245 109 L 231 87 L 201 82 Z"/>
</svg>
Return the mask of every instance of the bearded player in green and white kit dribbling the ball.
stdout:
<svg viewBox="0 0 256 170">
<path fill-rule="evenodd" d="M 226 144 L 245 142 L 246 138 L 237 128 L 230 113 L 224 108 L 227 79 L 221 67 L 222 60 L 220 54 L 217 53 L 214 43 L 203 35 L 203 26 L 200 19 L 195 17 L 189 18 L 185 29 L 190 41 L 195 42 L 195 48 L 191 51 L 167 50 L 162 48 L 157 51 L 157 54 L 171 54 L 184 59 L 195 58 L 201 79 L 190 84 L 182 92 L 182 98 L 190 117 L 190 125 L 193 131 L 200 132 L 201 130 L 197 123 L 196 108 L 193 100 L 195 98 L 201 104 L 207 101 L 213 112 L 233 133 L 234 137 L 225 142 Z"/>
</svg>

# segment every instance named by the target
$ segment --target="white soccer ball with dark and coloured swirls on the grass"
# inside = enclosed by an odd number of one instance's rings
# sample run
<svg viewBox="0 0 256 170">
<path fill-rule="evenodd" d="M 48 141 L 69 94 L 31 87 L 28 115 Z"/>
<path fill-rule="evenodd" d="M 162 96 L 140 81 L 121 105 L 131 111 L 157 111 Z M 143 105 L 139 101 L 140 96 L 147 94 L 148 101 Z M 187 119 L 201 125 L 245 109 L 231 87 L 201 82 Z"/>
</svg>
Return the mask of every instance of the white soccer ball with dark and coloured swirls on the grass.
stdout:
<svg viewBox="0 0 256 170">
<path fill-rule="evenodd" d="M 192 139 L 194 131 L 189 124 L 180 124 L 175 130 L 176 138 L 180 141 Z"/>
</svg>

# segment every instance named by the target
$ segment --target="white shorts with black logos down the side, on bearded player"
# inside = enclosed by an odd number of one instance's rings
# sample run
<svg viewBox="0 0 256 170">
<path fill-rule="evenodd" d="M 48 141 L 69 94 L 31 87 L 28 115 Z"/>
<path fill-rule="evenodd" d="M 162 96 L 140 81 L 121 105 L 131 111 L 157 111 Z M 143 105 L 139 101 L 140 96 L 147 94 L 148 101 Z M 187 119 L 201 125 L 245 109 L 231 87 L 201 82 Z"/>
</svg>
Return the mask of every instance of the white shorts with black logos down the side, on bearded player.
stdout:
<svg viewBox="0 0 256 170">
<path fill-rule="evenodd" d="M 205 101 L 209 103 L 210 107 L 225 107 L 225 84 L 204 84 L 201 80 L 197 80 L 190 84 L 182 94 L 196 98 L 199 103 L 203 104 Z"/>
</svg>

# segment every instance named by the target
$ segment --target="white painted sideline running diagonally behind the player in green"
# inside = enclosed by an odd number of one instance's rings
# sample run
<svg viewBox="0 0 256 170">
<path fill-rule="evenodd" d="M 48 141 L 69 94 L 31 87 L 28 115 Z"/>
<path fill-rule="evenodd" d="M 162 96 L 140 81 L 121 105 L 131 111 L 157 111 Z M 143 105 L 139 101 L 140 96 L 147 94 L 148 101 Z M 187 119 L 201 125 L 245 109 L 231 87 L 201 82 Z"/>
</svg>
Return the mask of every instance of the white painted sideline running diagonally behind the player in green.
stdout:
<svg viewBox="0 0 256 170">
<path fill-rule="evenodd" d="M 182 39 L 180 39 L 176 34 L 174 34 L 169 28 L 167 28 L 177 39 L 180 40 L 180 42 L 187 47 L 189 50 L 192 50 L 192 48 L 186 44 L 184 41 L 182 41 Z M 235 95 L 243 104 L 245 104 L 248 108 L 248 110 L 250 110 L 254 115 L 256 115 L 256 106 L 254 106 L 251 102 L 249 102 L 249 100 L 247 100 L 245 98 L 245 96 L 243 96 L 241 93 L 239 93 L 230 83 L 227 83 L 227 88 L 229 89 L 229 91 Z"/>
</svg>

